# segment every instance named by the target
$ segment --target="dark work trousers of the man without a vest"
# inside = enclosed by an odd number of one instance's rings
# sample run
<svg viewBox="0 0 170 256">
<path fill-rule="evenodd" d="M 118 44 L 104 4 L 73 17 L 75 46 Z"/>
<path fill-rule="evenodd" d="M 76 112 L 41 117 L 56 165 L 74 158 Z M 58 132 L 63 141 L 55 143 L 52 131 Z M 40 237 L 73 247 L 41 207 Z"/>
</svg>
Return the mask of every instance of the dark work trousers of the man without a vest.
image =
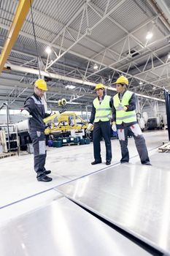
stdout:
<svg viewBox="0 0 170 256">
<path fill-rule="evenodd" d="M 45 176 L 45 133 L 30 129 L 29 135 L 34 147 L 34 170 L 37 174 L 36 177 Z"/>
</svg>

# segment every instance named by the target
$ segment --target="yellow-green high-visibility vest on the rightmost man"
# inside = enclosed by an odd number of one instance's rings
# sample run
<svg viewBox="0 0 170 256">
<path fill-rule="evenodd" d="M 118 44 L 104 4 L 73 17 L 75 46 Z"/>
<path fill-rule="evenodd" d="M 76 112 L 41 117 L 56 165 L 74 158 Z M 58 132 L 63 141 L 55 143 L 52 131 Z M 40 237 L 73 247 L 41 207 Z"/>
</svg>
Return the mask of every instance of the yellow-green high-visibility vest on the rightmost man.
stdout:
<svg viewBox="0 0 170 256">
<path fill-rule="evenodd" d="M 132 94 L 133 92 L 131 91 L 125 91 L 121 102 L 118 94 L 113 97 L 113 105 L 116 109 L 116 124 L 131 123 L 136 121 L 135 110 L 127 112 L 123 110 L 124 106 L 129 105 L 129 100 L 131 99 Z"/>
</svg>

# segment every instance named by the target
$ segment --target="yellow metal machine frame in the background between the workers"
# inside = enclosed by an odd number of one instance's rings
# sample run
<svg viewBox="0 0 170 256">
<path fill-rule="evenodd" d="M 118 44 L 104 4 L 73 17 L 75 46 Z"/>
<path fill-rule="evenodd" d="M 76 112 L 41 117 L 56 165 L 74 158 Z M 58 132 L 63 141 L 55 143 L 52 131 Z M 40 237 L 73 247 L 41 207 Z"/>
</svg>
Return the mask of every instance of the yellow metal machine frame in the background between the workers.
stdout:
<svg viewBox="0 0 170 256">
<path fill-rule="evenodd" d="M 49 127 L 45 129 L 45 135 L 54 134 L 55 132 L 66 132 L 74 129 L 81 131 L 88 127 L 88 123 L 74 112 L 56 112 L 44 119 Z"/>
</svg>

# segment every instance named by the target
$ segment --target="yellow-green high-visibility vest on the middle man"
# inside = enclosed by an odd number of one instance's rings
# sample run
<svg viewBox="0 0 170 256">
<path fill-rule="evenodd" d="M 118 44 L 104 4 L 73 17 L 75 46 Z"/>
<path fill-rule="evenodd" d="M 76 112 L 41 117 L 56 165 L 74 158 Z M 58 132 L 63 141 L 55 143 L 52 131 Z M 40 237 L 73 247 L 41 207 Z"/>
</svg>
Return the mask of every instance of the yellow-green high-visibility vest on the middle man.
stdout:
<svg viewBox="0 0 170 256">
<path fill-rule="evenodd" d="M 94 122 L 98 121 L 109 121 L 109 119 L 112 116 L 112 109 L 110 108 L 109 102 L 110 102 L 110 96 L 105 95 L 104 99 L 102 100 L 101 104 L 98 100 L 98 97 L 93 100 L 93 106 L 96 108 L 96 114 Z"/>
</svg>

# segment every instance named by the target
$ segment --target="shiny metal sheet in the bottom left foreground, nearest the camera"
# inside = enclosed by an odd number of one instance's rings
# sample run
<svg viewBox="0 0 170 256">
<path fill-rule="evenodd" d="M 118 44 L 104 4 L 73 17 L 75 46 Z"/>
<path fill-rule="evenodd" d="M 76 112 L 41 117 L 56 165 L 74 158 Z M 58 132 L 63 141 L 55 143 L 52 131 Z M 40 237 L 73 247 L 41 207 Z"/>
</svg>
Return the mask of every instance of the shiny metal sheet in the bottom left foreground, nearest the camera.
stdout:
<svg viewBox="0 0 170 256">
<path fill-rule="evenodd" d="M 150 256 L 67 198 L 0 227 L 1 256 Z"/>
</svg>

